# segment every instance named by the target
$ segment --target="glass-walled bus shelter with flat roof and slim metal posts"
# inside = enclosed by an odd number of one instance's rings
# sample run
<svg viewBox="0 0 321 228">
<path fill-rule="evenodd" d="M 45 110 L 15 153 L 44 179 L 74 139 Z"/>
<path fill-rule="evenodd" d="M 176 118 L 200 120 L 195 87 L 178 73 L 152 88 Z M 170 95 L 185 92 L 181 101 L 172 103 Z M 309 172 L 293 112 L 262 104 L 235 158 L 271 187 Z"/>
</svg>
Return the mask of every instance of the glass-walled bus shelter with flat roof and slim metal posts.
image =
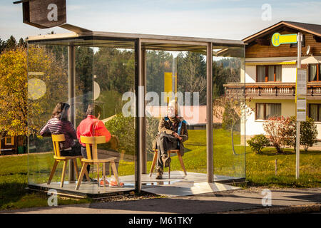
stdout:
<svg viewBox="0 0 321 228">
<path fill-rule="evenodd" d="M 66 195 L 101 196 L 175 182 L 224 182 L 245 179 L 245 96 L 225 94 L 227 83 L 245 83 L 243 41 L 88 31 L 65 25 L 73 33 L 28 39 L 29 173 L 31 189 L 55 189 Z M 188 125 L 182 170 L 172 155 L 170 178 L 150 176 L 153 139 L 170 100 Z M 88 105 L 100 107 L 99 119 L 111 140 L 98 145 L 98 158 L 116 157 L 124 187 L 82 182 L 76 190 L 74 164 L 54 165 L 51 137 L 39 131 L 57 103 L 70 105 L 75 129 Z M 77 161 L 78 172 L 81 162 Z M 71 167 L 71 168 L 70 168 Z M 101 167 L 99 168 L 101 171 Z M 97 166 L 88 175 L 96 179 Z M 114 177 L 106 163 L 107 180 Z M 101 173 L 100 173 L 101 178 Z"/>
</svg>

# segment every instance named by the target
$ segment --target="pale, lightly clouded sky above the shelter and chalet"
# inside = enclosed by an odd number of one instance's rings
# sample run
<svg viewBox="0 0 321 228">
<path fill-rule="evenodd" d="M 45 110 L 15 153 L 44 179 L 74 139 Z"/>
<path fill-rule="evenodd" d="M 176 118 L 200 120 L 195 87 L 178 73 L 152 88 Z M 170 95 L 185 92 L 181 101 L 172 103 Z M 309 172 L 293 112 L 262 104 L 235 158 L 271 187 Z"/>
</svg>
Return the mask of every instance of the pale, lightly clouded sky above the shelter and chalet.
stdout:
<svg viewBox="0 0 321 228">
<path fill-rule="evenodd" d="M 17 1 L 17 0 L 15 0 Z M 22 5 L 0 0 L 0 38 L 17 40 L 63 28 L 22 22 Z M 321 24 L 321 1 L 66 0 L 67 23 L 93 31 L 240 40 L 279 21 Z"/>
</svg>

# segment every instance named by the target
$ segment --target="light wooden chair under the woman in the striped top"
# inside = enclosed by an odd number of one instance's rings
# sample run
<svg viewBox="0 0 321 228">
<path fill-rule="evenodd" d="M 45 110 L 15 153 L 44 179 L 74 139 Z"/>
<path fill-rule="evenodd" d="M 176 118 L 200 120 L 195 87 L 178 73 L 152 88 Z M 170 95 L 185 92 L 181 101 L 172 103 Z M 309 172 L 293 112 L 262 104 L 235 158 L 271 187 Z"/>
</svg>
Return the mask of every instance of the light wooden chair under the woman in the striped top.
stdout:
<svg viewBox="0 0 321 228">
<path fill-rule="evenodd" d="M 52 138 L 52 142 L 54 144 L 54 166 L 52 167 L 50 176 L 49 176 L 49 180 L 47 182 L 47 185 L 50 185 L 52 177 L 54 177 L 54 173 L 56 171 L 56 167 L 58 165 L 58 162 L 63 162 L 63 170 L 61 173 L 61 183 L 60 183 L 60 187 L 63 187 L 63 180 L 65 179 L 65 172 L 66 172 L 66 167 L 67 167 L 67 162 L 68 160 L 73 160 L 73 167 L 75 168 L 75 172 L 78 178 L 78 166 L 77 166 L 77 158 L 79 158 L 79 160 L 81 160 L 82 156 L 61 156 L 60 153 L 60 148 L 59 148 L 59 142 L 63 142 L 65 140 L 65 135 L 61 134 L 61 135 L 51 135 Z M 86 177 L 88 177 L 88 173 L 86 174 Z"/>
</svg>

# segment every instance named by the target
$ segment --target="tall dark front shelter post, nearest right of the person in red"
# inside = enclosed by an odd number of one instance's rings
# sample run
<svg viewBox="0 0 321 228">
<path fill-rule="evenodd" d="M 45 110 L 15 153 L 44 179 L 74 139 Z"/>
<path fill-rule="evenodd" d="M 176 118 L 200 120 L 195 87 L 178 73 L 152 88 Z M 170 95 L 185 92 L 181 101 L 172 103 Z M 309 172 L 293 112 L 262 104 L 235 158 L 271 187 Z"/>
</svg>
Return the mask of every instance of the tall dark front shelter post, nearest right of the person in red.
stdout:
<svg viewBox="0 0 321 228">
<path fill-rule="evenodd" d="M 142 122 L 143 119 L 139 116 L 141 114 L 141 91 L 140 85 L 142 83 L 142 73 L 141 73 L 141 38 L 136 39 L 135 41 L 135 95 L 136 95 L 136 112 L 135 112 L 135 130 L 136 130 L 136 167 L 135 167 L 135 187 L 137 192 L 141 192 L 141 155 L 142 151 L 142 137 L 143 137 L 143 128 Z"/>
</svg>

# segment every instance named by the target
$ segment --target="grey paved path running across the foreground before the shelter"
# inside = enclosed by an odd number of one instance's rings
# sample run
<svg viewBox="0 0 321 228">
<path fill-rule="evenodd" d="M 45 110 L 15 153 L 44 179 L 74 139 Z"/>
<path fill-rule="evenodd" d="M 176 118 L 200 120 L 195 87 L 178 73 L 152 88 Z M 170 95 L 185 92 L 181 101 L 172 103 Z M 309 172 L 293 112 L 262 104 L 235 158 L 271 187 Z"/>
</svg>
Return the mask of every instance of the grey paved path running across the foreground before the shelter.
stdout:
<svg viewBox="0 0 321 228">
<path fill-rule="evenodd" d="M 260 209 L 263 189 L 234 190 L 229 192 L 208 193 L 188 197 L 161 199 L 141 199 L 118 202 L 96 202 L 91 204 L 73 204 L 58 207 L 35 207 L 0 213 L 76 213 L 76 214 L 144 214 L 144 213 L 217 213 Z M 321 188 L 314 189 L 274 189 L 272 207 L 312 205 L 321 203 Z"/>
</svg>

